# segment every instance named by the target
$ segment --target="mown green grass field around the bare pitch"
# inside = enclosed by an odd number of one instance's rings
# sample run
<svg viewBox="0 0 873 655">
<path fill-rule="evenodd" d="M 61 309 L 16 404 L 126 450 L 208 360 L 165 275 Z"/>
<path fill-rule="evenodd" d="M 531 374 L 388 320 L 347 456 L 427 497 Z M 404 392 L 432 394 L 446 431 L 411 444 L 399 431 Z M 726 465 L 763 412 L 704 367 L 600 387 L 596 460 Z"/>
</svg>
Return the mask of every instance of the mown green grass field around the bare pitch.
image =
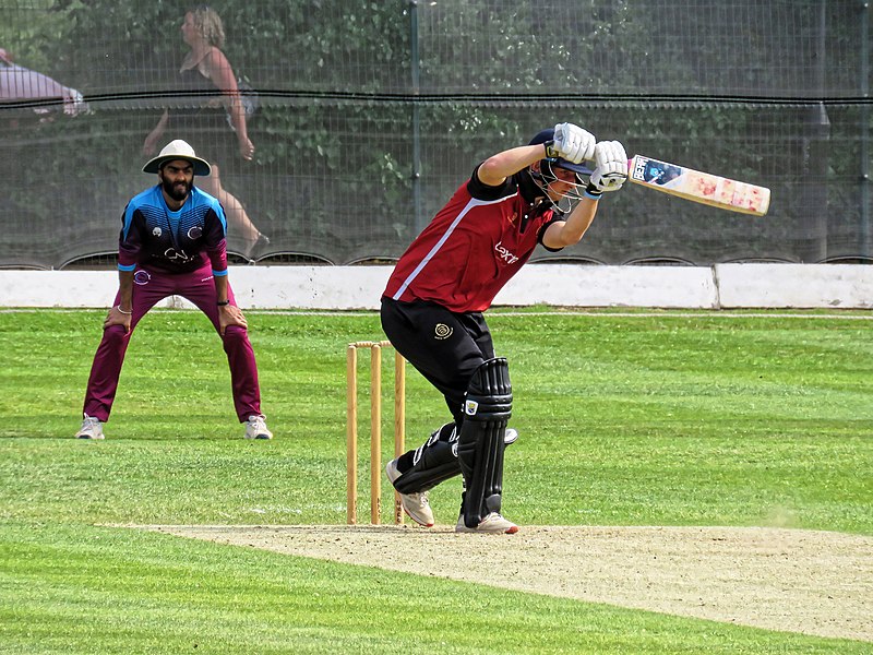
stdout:
<svg viewBox="0 0 873 655">
<path fill-rule="evenodd" d="M 873 535 L 873 323 L 822 314 L 491 312 L 522 434 L 504 513 Z M 870 653 L 112 527 L 345 522 L 345 344 L 379 319 L 248 315 L 276 439 L 241 438 L 206 320 L 155 311 L 92 443 L 72 434 L 104 312 L 0 312 L 0 652 Z M 415 445 L 446 412 L 411 370 L 407 398 Z M 432 492 L 439 523 L 458 498 L 458 480 Z"/>
</svg>

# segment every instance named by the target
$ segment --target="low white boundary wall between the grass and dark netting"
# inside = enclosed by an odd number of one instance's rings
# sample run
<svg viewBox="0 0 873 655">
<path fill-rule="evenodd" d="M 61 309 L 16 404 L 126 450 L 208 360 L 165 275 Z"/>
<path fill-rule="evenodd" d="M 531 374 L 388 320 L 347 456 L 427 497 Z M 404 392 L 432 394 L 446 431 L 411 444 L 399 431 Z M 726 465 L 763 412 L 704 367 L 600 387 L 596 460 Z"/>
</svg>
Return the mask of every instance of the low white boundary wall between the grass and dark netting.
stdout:
<svg viewBox="0 0 873 655">
<path fill-rule="evenodd" d="M 231 266 L 243 309 L 376 309 L 392 266 Z M 108 307 L 115 271 L 0 271 L 0 307 Z M 494 305 L 662 308 L 873 308 L 873 266 L 529 264 Z M 168 298 L 162 307 L 192 307 Z"/>
</svg>

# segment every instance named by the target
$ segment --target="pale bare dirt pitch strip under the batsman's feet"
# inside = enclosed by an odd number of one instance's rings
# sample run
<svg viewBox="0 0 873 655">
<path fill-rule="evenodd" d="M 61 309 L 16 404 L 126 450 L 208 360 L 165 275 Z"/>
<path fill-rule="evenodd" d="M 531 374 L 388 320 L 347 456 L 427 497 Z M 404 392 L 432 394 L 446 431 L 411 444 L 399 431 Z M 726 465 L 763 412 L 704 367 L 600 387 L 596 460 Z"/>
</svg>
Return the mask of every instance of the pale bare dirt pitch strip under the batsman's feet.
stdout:
<svg viewBox="0 0 873 655">
<path fill-rule="evenodd" d="M 182 537 L 873 642 L 873 537 L 780 528 L 141 526 Z M 463 559 L 457 552 L 464 552 Z"/>
</svg>

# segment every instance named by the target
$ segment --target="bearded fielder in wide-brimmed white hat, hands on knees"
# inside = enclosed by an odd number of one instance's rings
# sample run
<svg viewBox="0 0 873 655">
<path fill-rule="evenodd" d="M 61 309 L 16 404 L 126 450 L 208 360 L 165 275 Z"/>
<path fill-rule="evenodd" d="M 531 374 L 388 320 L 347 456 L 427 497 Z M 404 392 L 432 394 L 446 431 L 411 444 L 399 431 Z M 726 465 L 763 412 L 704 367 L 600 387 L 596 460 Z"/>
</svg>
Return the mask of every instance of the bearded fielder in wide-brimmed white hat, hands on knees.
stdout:
<svg viewBox="0 0 873 655">
<path fill-rule="evenodd" d="M 172 141 L 144 172 L 158 183 L 133 198 L 124 210 L 118 248 L 119 288 L 104 321 L 103 338 L 85 392 L 80 439 L 103 439 L 136 323 L 168 296 L 182 296 L 206 314 L 222 337 L 234 406 L 247 439 L 272 439 L 261 414 L 258 366 L 248 323 L 227 279 L 227 219 L 220 203 L 194 186 L 210 164 L 188 143 Z"/>
</svg>

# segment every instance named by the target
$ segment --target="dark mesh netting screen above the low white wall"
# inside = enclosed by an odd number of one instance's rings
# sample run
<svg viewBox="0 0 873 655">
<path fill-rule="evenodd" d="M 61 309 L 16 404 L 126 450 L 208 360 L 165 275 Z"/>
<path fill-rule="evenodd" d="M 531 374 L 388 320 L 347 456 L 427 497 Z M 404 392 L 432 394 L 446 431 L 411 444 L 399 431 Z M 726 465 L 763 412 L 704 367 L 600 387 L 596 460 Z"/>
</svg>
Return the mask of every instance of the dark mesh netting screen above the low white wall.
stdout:
<svg viewBox="0 0 873 655">
<path fill-rule="evenodd" d="M 751 217 L 629 188 L 582 243 L 539 259 L 870 261 L 865 3 L 211 7 L 256 92 L 252 162 L 215 84 L 179 74 L 183 5 L 0 0 L 0 266 L 109 265 L 127 200 L 155 181 L 140 169 L 165 109 L 157 147 L 182 138 L 218 164 L 236 261 L 396 259 L 477 162 L 564 120 L 773 202 Z M 270 242 L 252 248 L 252 230 Z"/>
</svg>

